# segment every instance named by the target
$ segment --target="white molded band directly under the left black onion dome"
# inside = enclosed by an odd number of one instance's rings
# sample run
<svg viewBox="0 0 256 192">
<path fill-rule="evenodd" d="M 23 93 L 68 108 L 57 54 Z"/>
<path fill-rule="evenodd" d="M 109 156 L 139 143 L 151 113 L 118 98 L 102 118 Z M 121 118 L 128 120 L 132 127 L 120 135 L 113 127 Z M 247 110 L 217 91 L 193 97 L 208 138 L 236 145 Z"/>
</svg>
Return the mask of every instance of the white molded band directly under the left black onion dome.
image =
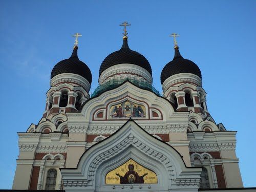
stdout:
<svg viewBox="0 0 256 192">
<path fill-rule="evenodd" d="M 62 73 L 62 74 L 56 75 L 51 79 L 50 86 L 54 87 L 56 86 L 56 84 L 61 82 L 76 83 L 78 84 L 78 86 L 79 85 L 82 86 L 87 91 L 87 93 L 89 93 L 91 88 L 91 84 L 86 78 L 73 73 Z"/>
</svg>

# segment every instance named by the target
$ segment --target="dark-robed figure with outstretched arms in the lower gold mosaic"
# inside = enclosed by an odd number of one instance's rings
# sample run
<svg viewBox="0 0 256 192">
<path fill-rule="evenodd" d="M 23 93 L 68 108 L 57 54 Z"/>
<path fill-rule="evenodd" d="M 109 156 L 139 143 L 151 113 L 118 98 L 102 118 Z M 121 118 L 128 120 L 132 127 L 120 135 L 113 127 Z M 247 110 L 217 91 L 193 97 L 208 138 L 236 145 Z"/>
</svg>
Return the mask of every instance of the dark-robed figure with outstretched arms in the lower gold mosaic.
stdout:
<svg viewBox="0 0 256 192">
<path fill-rule="evenodd" d="M 125 173 L 124 176 L 120 176 L 119 173 L 116 173 L 118 177 L 120 177 L 120 184 L 129 184 L 129 183 L 144 183 L 144 177 L 147 175 L 145 173 L 142 176 L 139 176 L 137 172 L 134 171 L 134 165 L 128 165 L 129 171 Z"/>
</svg>

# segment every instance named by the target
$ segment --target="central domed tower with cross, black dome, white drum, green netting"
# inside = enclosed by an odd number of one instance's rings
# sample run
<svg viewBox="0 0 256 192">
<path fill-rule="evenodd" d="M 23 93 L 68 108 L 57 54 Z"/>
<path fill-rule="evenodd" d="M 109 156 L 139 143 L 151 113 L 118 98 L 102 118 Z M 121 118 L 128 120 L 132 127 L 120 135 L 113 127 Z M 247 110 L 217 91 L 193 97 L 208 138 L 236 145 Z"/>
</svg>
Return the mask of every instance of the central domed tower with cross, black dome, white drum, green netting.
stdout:
<svg viewBox="0 0 256 192">
<path fill-rule="evenodd" d="M 114 89 L 124 81 L 130 81 L 137 87 L 159 94 L 152 87 L 150 63 L 142 54 L 131 50 L 128 46 L 126 26 L 130 26 L 130 24 L 124 22 L 120 26 L 124 26 L 123 45 L 120 50 L 108 55 L 101 63 L 99 86 L 92 97 Z"/>
</svg>

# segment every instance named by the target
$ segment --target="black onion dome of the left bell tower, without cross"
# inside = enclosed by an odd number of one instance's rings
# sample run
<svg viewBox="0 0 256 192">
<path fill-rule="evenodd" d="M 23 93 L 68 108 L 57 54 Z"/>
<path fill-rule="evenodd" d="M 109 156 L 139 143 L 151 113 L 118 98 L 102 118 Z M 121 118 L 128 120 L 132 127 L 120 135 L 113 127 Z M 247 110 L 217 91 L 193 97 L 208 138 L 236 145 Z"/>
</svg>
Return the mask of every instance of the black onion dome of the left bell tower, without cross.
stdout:
<svg viewBox="0 0 256 192">
<path fill-rule="evenodd" d="M 77 56 L 78 47 L 75 46 L 70 58 L 58 62 L 52 69 L 51 79 L 62 73 L 74 73 L 86 78 L 92 83 L 92 73 L 86 63 L 79 60 Z"/>
</svg>

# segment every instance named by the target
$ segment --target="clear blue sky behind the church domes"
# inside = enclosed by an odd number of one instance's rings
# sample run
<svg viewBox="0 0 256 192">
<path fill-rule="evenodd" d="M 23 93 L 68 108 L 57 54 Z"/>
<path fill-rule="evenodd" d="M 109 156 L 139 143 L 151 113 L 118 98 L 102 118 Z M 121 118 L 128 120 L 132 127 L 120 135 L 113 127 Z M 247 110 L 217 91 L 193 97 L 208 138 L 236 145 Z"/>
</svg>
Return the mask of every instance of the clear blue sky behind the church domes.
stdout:
<svg viewBox="0 0 256 192">
<path fill-rule="evenodd" d="M 0 188 L 12 186 L 18 155 L 16 132 L 38 123 L 54 65 L 70 57 L 81 33 L 79 59 L 97 87 L 103 59 L 119 50 L 124 20 L 129 46 L 160 74 L 174 56 L 170 33 L 178 33 L 184 58 L 202 72 L 211 116 L 237 133 L 237 156 L 245 187 L 256 186 L 256 1 L 0 1 L 1 135 Z"/>
</svg>

